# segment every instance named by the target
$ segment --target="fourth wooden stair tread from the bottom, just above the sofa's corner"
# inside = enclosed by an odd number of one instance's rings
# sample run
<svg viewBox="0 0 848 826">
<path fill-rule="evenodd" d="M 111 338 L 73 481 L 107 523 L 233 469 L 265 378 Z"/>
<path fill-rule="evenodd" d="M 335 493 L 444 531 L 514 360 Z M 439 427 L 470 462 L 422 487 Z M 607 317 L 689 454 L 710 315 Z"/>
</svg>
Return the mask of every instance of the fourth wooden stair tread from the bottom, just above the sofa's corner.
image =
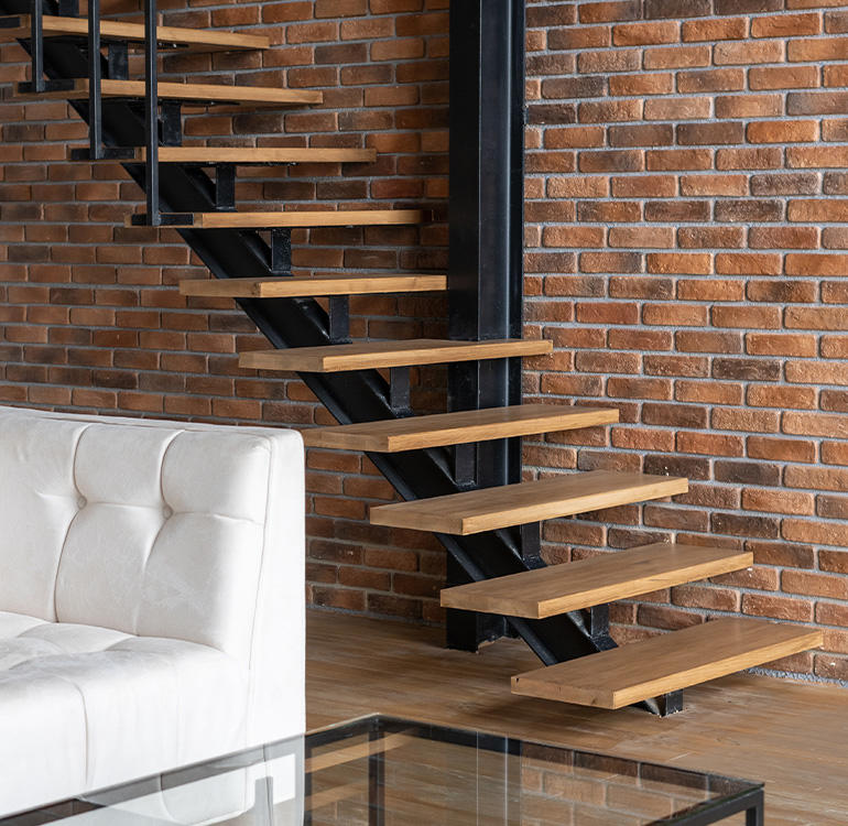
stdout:
<svg viewBox="0 0 848 826">
<path fill-rule="evenodd" d="M 570 431 L 618 422 L 609 407 L 565 407 L 554 404 L 520 404 L 459 413 L 389 419 L 338 427 L 303 431 L 309 447 L 398 453 L 536 433 Z"/>
</svg>

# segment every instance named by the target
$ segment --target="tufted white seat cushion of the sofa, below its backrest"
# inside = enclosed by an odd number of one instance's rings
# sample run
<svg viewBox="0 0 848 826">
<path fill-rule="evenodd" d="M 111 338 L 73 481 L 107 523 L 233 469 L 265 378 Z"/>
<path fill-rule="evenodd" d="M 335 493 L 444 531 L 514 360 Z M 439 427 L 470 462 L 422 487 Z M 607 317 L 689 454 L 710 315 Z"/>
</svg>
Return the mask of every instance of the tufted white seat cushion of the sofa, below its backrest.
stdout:
<svg viewBox="0 0 848 826">
<path fill-rule="evenodd" d="M 210 646 L 0 612 L 7 812 L 243 748 L 247 710 L 247 672 Z"/>
</svg>

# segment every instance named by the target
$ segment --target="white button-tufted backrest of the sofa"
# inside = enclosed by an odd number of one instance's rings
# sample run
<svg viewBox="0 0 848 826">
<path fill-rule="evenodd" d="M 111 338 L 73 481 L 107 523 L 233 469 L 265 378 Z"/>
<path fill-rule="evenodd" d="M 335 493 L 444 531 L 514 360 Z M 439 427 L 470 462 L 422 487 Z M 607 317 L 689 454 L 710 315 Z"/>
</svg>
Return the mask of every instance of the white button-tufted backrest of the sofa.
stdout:
<svg viewBox="0 0 848 826">
<path fill-rule="evenodd" d="M 248 665 L 300 630 L 275 605 L 303 599 L 293 431 L 0 407 L 0 611 Z"/>
</svg>

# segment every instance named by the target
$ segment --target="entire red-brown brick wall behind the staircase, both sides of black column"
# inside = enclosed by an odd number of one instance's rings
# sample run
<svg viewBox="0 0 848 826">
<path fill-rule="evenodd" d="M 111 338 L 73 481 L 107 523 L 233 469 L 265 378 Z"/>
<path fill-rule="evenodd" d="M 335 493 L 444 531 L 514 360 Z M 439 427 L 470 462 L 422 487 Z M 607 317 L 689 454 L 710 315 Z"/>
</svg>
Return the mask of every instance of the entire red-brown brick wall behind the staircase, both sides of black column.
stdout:
<svg viewBox="0 0 848 826">
<path fill-rule="evenodd" d="M 163 7 L 165 3 L 163 2 Z M 176 76 L 319 88 L 305 111 L 193 116 L 188 139 L 376 146 L 373 166 L 243 171 L 243 204 L 425 204 L 447 189 L 447 0 L 170 3 L 168 22 L 261 29 L 264 54 L 172 57 Z M 138 6 L 113 0 L 115 13 Z M 752 572 L 616 608 L 616 632 L 743 612 L 826 630 L 782 670 L 848 680 L 848 0 L 528 3 L 528 396 L 600 400 L 609 431 L 528 441 L 526 474 L 680 472 L 674 503 L 551 522 L 552 562 L 648 541 L 753 551 Z M 0 80 L 24 77 L 0 48 Z M 63 163 L 63 104 L 0 106 L 0 399 L 214 421 L 328 423 L 293 377 L 239 370 L 264 346 L 174 233 L 123 229 L 117 166 Z M 131 205 L 131 206 L 130 206 Z M 301 271 L 444 268 L 445 225 L 295 236 Z M 355 334 L 444 334 L 438 297 L 355 302 Z M 439 370 L 422 410 L 438 409 Z M 371 528 L 391 499 L 358 454 L 313 450 L 314 602 L 439 621 L 444 555 Z"/>
</svg>

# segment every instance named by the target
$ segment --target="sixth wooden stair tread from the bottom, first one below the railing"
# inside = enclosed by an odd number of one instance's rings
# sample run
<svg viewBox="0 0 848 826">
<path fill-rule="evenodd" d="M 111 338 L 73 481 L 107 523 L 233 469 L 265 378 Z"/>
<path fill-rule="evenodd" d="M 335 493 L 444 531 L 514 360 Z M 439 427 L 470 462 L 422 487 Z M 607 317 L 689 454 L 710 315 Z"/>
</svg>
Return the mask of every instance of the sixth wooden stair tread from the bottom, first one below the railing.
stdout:
<svg viewBox="0 0 848 826">
<path fill-rule="evenodd" d="M 447 289 L 447 275 L 315 275 L 282 279 L 203 279 L 181 281 L 181 295 L 206 298 L 298 298 L 320 295 L 424 293 Z"/>
</svg>

